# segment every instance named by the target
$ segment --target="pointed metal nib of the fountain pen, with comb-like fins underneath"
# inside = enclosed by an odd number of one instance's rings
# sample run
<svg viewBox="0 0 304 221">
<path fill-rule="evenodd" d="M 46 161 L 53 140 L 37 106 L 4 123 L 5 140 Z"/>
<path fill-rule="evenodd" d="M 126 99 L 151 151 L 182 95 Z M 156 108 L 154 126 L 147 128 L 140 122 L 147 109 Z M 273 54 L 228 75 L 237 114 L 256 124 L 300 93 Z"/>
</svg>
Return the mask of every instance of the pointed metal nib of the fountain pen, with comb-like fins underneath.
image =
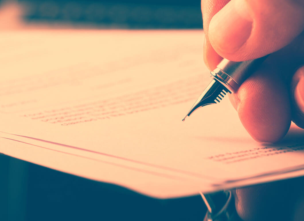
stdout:
<svg viewBox="0 0 304 221">
<path fill-rule="evenodd" d="M 223 86 L 219 81 L 213 79 L 206 89 L 203 91 L 199 99 L 196 100 L 189 113 L 185 116 L 190 116 L 193 111 L 197 110 L 199 107 L 204 107 L 208 104 L 219 103 L 226 93 L 231 93 L 225 86 Z M 182 121 L 185 121 L 185 118 Z"/>
</svg>

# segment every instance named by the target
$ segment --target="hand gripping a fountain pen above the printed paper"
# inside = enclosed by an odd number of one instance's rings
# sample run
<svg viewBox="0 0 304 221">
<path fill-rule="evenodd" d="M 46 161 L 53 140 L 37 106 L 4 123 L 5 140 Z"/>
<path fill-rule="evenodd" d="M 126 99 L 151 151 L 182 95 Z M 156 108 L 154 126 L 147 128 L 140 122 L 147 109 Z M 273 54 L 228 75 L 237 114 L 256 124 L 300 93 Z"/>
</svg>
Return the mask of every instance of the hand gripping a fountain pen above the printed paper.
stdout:
<svg viewBox="0 0 304 221">
<path fill-rule="evenodd" d="M 209 69 L 273 53 L 230 96 L 249 134 L 276 142 L 291 121 L 304 128 L 304 1 L 202 0 L 202 14 Z"/>
</svg>

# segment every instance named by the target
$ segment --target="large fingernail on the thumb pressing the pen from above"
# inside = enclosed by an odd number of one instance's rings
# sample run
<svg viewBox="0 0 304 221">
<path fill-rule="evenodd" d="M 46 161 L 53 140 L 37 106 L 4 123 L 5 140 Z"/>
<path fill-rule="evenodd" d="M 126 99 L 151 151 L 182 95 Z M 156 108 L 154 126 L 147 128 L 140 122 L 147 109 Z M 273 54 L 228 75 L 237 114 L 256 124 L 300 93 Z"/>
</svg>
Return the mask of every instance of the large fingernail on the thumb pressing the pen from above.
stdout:
<svg viewBox="0 0 304 221">
<path fill-rule="evenodd" d="M 250 36 L 250 15 L 246 1 L 228 2 L 210 21 L 208 37 L 212 47 L 224 53 L 236 52 Z"/>
</svg>

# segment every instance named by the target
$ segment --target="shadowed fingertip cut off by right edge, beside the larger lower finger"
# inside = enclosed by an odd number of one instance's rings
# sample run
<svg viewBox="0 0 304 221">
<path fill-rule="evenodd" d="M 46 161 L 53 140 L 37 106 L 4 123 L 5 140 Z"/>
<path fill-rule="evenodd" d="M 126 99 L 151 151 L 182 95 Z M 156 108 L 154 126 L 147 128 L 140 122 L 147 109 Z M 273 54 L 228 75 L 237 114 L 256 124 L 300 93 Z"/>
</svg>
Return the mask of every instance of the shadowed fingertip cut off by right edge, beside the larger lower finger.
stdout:
<svg viewBox="0 0 304 221">
<path fill-rule="evenodd" d="M 292 121 L 304 128 L 304 66 L 292 78 Z"/>
</svg>

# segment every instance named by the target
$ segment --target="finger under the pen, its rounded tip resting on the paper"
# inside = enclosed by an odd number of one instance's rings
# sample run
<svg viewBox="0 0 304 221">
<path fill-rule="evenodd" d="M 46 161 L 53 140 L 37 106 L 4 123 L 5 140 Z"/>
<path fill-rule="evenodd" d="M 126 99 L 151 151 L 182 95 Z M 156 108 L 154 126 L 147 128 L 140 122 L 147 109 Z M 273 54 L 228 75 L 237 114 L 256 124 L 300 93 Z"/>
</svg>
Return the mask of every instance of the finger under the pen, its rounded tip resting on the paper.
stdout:
<svg viewBox="0 0 304 221">
<path fill-rule="evenodd" d="M 278 141 L 291 123 L 288 84 L 281 77 L 284 71 L 273 68 L 269 58 L 230 96 L 240 121 L 259 142 Z"/>
</svg>

